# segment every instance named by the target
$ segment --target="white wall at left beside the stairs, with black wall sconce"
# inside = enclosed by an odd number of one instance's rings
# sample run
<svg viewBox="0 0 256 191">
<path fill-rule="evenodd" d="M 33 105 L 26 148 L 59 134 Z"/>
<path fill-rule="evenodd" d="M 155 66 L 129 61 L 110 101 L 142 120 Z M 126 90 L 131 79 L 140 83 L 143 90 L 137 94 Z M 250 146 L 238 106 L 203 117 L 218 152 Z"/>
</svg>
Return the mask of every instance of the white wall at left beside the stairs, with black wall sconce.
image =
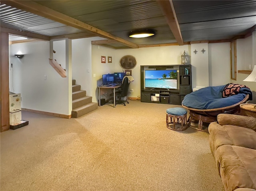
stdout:
<svg viewBox="0 0 256 191">
<path fill-rule="evenodd" d="M 9 65 L 13 64 L 10 70 L 10 91 L 21 93 L 22 108 L 69 115 L 68 78 L 62 78 L 50 66 L 49 46 L 49 42 L 9 46 Z M 18 51 L 25 54 L 22 59 L 13 56 Z"/>
</svg>

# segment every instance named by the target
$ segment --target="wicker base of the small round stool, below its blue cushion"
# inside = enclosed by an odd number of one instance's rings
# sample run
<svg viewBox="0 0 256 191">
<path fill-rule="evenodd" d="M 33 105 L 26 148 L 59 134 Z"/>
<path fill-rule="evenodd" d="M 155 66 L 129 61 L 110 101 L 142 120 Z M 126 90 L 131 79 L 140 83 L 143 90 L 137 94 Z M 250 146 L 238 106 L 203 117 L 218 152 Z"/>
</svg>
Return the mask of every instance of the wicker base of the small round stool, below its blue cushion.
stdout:
<svg viewBox="0 0 256 191">
<path fill-rule="evenodd" d="M 187 114 L 185 115 L 170 115 L 166 113 L 166 127 L 174 131 L 184 131 L 187 126 Z"/>
</svg>

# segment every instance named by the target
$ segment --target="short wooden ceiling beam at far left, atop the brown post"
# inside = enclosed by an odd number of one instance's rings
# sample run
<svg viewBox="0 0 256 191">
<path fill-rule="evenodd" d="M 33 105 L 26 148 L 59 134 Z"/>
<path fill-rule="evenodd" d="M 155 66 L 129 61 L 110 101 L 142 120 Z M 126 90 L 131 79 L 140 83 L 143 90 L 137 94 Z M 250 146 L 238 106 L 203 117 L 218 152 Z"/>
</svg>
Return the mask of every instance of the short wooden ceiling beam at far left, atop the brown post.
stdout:
<svg viewBox="0 0 256 191">
<path fill-rule="evenodd" d="M 40 34 L 34 34 L 34 33 L 31 33 L 31 32 L 13 30 L 13 29 L 10 29 L 10 28 L 1 27 L 1 32 L 7 32 L 9 34 L 24 36 L 24 37 L 33 38 L 33 39 L 36 39 L 36 40 L 44 40 L 44 41 L 49 41 L 50 40 L 50 37 L 48 37 L 48 36 L 44 36 L 44 35 L 40 35 Z"/>
</svg>

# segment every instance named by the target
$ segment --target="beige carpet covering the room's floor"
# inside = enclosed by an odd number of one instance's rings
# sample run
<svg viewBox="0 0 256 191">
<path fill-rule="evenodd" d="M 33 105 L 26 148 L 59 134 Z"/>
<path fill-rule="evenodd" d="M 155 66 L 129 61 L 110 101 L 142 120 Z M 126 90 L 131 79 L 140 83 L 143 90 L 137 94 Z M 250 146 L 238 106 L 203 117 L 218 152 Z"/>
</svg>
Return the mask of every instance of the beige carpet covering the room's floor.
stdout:
<svg viewBox="0 0 256 191">
<path fill-rule="evenodd" d="M 224 191 L 206 132 L 166 128 L 166 109 L 130 101 L 79 118 L 22 111 L 1 135 L 1 191 Z"/>
</svg>

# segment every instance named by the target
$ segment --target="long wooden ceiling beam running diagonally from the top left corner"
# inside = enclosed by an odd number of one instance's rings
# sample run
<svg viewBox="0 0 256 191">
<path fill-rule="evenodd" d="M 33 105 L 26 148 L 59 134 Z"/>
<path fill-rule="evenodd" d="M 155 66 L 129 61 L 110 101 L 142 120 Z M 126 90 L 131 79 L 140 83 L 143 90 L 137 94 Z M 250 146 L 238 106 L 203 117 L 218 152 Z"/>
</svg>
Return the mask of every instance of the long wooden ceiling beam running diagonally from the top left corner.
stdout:
<svg viewBox="0 0 256 191">
<path fill-rule="evenodd" d="M 129 46 L 131 48 L 138 48 L 137 44 L 134 44 L 132 42 L 129 42 L 127 40 L 124 40 L 122 38 L 119 38 L 117 36 L 114 36 L 108 32 L 105 32 L 103 30 L 100 30 L 98 28 L 95 28 L 89 24 L 86 24 L 84 22 L 81 22 L 77 19 L 74 19 L 70 16 L 67 16 L 65 14 L 62 14 L 60 12 L 57 12 L 55 10 L 52 10 L 46 6 L 42 6 L 36 2 L 33 1 L 20 1 L 20 0 L 1 0 L 1 3 L 7 4 L 9 6 L 13 6 L 15 8 L 30 12 L 32 14 L 36 14 L 45 18 L 48 18 L 50 20 L 54 20 L 56 22 L 60 22 L 62 24 L 65 24 L 67 26 L 72 26 L 74 28 L 78 28 L 80 30 L 86 30 L 90 31 L 92 34 L 96 34 L 97 36 L 116 40 L 126 46 Z"/>
</svg>

